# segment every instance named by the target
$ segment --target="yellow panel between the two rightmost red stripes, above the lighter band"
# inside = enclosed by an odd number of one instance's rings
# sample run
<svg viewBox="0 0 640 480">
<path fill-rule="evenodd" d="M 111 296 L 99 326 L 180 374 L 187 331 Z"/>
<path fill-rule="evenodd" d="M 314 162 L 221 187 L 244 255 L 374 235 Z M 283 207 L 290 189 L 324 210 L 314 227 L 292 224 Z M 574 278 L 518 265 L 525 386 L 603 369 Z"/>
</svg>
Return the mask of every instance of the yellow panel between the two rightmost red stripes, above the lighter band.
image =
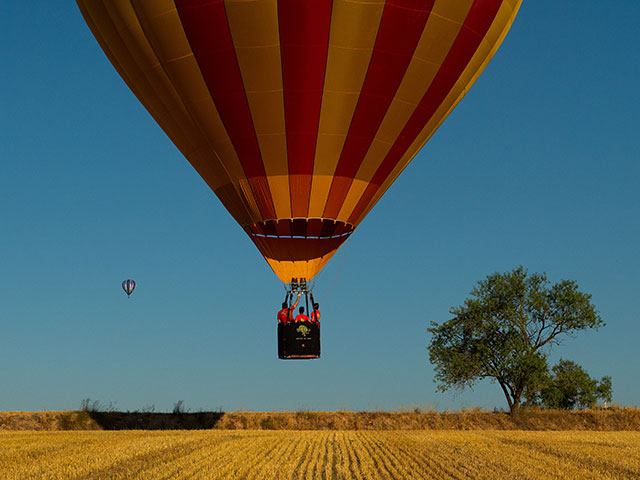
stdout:
<svg viewBox="0 0 640 480">
<path fill-rule="evenodd" d="M 414 56 L 376 132 L 375 140 L 356 173 L 356 178 L 367 182 L 373 178 L 389 149 L 431 86 L 431 82 L 460 32 L 472 2 L 437 0 L 434 10 L 437 11 L 438 6 L 444 3 L 448 6 L 439 8 L 444 10 L 450 18 L 440 15 L 429 16 Z M 452 3 L 455 4 L 455 8 L 451 6 Z"/>
</svg>

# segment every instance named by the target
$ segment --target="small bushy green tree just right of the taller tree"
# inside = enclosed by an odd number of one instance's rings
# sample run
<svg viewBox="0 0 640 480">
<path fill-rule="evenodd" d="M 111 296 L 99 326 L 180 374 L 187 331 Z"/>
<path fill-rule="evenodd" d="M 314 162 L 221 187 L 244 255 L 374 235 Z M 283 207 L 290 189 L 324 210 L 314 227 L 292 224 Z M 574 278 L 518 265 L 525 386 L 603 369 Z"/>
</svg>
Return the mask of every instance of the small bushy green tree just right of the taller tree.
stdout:
<svg viewBox="0 0 640 480">
<path fill-rule="evenodd" d="M 610 402 L 611 395 L 611 377 L 598 382 L 577 363 L 560 359 L 534 401 L 546 408 L 573 410 L 591 408 L 599 399 Z"/>
</svg>

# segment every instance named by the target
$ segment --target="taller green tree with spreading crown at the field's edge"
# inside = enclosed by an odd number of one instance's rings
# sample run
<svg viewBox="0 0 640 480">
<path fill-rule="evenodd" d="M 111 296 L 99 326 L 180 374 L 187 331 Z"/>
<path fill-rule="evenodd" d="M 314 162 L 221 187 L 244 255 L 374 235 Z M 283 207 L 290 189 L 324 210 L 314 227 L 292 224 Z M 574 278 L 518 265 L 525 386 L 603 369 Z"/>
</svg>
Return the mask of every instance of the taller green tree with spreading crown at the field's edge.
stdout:
<svg viewBox="0 0 640 480">
<path fill-rule="evenodd" d="M 512 413 L 545 385 L 553 345 L 603 325 L 576 282 L 550 285 L 546 274 L 529 275 L 522 266 L 479 281 L 449 313 L 451 320 L 428 329 L 438 389 L 462 390 L 488 378 L 500 385 Z"/>
</svg>

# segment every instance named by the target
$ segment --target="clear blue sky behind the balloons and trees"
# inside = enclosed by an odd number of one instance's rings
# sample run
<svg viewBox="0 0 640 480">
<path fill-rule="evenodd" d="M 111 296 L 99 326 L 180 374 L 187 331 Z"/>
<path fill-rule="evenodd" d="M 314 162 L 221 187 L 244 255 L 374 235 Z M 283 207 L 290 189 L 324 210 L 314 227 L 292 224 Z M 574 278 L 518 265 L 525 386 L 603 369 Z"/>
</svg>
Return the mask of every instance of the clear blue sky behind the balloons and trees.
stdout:
<svg viewBox="0 0 640 480">
<path fill-rule="evenodd" d="M 640 3 L 579 3 L 524 2 L 320 274 L 323 357 L 307 362 L 276 359 L 282 284 L 75 2 L 2 3 L 0 410 L 504 408 L 488 382 L 436 392 L 426 329 L 520 264 L 576 280 L 607 323 L 552 359 L 640 403 Z"/>
</svg>

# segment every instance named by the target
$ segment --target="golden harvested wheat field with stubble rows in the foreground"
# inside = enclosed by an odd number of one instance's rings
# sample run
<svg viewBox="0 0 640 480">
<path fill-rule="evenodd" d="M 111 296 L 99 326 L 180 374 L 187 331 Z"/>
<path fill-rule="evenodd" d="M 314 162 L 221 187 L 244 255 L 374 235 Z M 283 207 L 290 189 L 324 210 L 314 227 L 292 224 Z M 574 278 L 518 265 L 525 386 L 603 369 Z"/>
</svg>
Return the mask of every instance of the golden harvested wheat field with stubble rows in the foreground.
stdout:
<svg viewBox="0 0 640 480">
<path fill-rule="evenodd" d="M 632 479 L 640 432 L 3 432 L 0 477 Z"/>
</svg>

